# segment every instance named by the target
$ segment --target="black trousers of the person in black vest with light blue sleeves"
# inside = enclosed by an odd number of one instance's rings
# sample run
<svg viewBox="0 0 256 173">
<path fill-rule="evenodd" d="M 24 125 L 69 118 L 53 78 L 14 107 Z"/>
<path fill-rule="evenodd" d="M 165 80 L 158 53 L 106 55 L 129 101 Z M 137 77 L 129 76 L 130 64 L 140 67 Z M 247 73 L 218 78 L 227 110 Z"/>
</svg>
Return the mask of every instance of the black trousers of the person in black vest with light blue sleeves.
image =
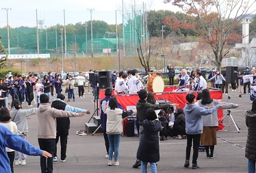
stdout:
<svg viewBox="0 0 256 173">
<path fill-rule="evenodd" d="M 60 138 L 60 159 L 66 159 L 66 145 L 68 144 L 68 130 L 57 131 L 56 141 L 55 141 L 55 150 L 53 157 L 57 157 L 57 142 Z"/>
</svg>

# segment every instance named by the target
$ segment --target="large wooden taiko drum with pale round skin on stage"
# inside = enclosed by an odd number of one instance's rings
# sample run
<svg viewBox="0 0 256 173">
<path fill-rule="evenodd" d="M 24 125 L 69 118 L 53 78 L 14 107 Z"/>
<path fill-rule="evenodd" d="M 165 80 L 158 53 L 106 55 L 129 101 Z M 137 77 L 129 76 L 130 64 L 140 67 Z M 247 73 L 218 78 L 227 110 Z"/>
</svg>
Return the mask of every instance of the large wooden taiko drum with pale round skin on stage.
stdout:
<svg viewBox="0 0 256 173">
<path fill-rule="evenodd" d="M 157 74 L 153 74 L 149 78 L 148 82 L 148 91 L 151 93 L 163 93 L 164 92 L 164 80 L 161 76 L 157 76 Z"/>
</svg>

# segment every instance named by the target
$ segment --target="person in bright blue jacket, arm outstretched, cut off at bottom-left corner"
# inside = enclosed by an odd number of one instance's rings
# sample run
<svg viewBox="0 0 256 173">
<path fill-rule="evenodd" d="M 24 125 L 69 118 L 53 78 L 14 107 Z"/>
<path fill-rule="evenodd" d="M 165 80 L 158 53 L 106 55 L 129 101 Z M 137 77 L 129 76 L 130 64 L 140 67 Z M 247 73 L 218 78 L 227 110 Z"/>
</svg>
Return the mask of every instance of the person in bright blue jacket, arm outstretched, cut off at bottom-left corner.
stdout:
<svg viewBox="0 0 256 173">
<path fill-rule="evenodd" d="M 0 125 L 0 172 L 11 173 L 10 160 L 5 147 L 12 148 L 15 151 L 25 153 L 26 155 L 40 155 L 43 157 L 52 157 L 47 151 L 42 151 L 39 148 L 29 144 L 20 136 L 12 133 L 7 127 Z"/>
</svg>

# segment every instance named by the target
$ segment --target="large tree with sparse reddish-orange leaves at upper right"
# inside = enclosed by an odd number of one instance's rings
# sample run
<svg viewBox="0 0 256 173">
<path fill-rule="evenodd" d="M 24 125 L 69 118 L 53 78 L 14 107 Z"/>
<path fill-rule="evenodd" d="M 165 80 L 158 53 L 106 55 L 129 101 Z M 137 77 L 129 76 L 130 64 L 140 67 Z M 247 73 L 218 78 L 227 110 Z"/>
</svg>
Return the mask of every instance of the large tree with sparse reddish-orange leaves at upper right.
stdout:
<svg viewBox="0 0 256 173">
<path fill-rule="evenodd" d="M 179 7 L 188 20 L 179 20 L 168 16 L 164 23 L 171 29 L 192 29 L 208 44 L 214 53 L 209 58 L 218 69 L 222 59 L 227 57 L 235 43 L 241 42 L 242 33 L 236 33 L 235 27 L 248 14 L 255 12 L 256 1 L 250 0 L 164 0 Z"/>
</svg>

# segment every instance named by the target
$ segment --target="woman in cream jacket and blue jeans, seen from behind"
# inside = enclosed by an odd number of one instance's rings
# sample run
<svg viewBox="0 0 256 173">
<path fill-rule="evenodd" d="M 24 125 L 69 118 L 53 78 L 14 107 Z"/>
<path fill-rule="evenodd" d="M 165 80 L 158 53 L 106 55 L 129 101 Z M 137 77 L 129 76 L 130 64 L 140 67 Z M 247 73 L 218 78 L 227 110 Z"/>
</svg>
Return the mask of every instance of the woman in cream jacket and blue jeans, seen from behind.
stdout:
<svg viewBox="0 0 256 173">
<path fill-rule="evenodd" d="M 121 110 L 118 107 L 118 101 L 116 97 L 112 97 L 108 104 L 110 108 L 107 108 L 105 114 L 107 114 L 107 127 L 106 133 L 108 140 L 110 141 L 109 157 L 108 157 L 108 166 L 112 166 L 113 151 L 114 151 L 114 166 L 118 166 L 118 154 L 119 154 L 119 143 L 121 134 L 123 132 L 123 123 L 122 120 L 133 114 L 132 110 L 127 112 Z"/>
</svg>

